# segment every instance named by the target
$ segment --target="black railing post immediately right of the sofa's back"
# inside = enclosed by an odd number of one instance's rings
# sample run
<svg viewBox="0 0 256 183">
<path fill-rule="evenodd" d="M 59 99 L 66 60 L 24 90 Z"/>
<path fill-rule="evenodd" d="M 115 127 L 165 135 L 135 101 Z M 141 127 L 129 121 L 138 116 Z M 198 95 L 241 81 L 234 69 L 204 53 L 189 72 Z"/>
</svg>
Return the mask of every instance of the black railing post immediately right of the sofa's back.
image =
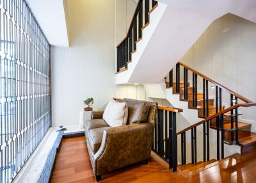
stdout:
<svg viewBox="0 0 256 183">
<path fill-rule="evenodd" d="M 157 154 L 164 155 L 163 145 L 163 110 L 157 109 Z"/>
</svg>

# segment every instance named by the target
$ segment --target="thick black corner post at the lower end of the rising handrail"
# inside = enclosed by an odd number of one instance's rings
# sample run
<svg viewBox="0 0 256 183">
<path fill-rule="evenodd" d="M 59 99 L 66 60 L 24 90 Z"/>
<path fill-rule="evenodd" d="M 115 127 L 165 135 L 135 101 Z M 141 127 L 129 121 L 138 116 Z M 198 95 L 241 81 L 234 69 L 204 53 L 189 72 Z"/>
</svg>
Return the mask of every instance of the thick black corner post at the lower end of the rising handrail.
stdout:
<svg viewBox="0 0 256 183">
<path fill-rule="evenodd" d="M 176 113 L 169 111 L 169 168 L 177 171 L 177 135 L 176 135 Z"/>
</svg>

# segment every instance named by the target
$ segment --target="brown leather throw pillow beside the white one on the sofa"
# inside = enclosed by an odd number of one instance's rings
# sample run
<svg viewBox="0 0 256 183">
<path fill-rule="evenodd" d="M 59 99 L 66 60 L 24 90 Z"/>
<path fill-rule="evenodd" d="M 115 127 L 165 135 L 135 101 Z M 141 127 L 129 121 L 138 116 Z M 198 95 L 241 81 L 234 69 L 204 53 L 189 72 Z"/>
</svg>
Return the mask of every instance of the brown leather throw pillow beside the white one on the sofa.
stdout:
<svg viewBox="0 0 256 183">
<path fill-rule="evenodd" d="M 127 125 L 131 123 L 145 123 L 150 105 L 147 102 L 126 101 L 128 106 Z"/>
</svg>

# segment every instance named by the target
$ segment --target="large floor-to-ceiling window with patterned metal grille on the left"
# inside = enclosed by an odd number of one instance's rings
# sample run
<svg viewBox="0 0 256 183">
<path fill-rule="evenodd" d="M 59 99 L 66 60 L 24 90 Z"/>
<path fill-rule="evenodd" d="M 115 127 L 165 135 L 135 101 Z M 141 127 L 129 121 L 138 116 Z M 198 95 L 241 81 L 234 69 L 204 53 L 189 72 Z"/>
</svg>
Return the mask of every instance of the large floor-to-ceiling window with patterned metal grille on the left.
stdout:
<svg viewBox="0 0 256 183">
<path fill-rule="evenodd" d="M 51 126 L 51 47 L 24 0 L 0 0 L 0 182 Z"/>
</svg>

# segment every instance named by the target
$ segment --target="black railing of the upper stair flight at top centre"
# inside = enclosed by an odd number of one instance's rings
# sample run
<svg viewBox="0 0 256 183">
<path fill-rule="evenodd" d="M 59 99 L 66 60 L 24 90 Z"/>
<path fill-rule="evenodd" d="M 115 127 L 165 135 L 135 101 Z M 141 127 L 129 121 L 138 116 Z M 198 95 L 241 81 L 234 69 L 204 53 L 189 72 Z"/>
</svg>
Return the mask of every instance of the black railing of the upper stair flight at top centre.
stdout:
<svg viewBox="0 0 256 183">
<path fill-rule="evenodd" d="M 157 6 L 154 0 L 139 0 L 125 38 L 116 46 L 116 72 L 127 70 L 131 54 L 136 51 L 136 43 L 142 38 L 142 29 L 149 24 L 149 13 Z"/>
</svg>

